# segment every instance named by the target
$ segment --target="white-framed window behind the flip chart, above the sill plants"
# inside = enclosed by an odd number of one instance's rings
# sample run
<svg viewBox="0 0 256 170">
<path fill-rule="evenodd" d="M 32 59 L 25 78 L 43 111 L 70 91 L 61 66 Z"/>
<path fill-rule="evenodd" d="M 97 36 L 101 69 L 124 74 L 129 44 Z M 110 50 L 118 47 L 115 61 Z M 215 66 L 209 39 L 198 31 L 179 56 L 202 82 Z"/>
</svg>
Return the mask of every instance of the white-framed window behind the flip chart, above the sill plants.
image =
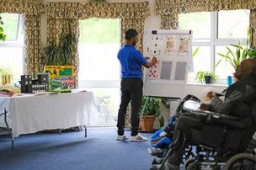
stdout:
<svg viewBox="0 0 256 170">
<path fill-rule="evenodd" d="M 189 73 L 189 77 L 195 79 L 199 71 L 215 71 L 218 79 L 232 75 L 234 70 L 225 61 L 215 67 L 220 59 L 217 54 L 227 53 L 226 47 L 238 41 L 245 46 L 248 27 L 249 10 L 179 14 L 179 29 L 192 29 L 193 50 L 199 46 L 194 57 L 194 72 Z"/>
</svg>

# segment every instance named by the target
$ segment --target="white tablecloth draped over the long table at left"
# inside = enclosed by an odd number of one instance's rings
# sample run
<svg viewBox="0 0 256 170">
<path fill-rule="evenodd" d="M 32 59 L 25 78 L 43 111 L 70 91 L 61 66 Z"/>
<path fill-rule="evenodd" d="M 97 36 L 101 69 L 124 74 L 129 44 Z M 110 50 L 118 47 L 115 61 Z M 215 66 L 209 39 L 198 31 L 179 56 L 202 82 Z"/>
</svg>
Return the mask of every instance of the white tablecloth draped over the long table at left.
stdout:
<svg viewBox="0 0 256 170">
<path fill-rule="evenodd" d="M 12 120 L 13 137 L 90 125 L 98 114 L 91 92 L 2 97 L 0 109 L 6 109 Z"/>
</svg>

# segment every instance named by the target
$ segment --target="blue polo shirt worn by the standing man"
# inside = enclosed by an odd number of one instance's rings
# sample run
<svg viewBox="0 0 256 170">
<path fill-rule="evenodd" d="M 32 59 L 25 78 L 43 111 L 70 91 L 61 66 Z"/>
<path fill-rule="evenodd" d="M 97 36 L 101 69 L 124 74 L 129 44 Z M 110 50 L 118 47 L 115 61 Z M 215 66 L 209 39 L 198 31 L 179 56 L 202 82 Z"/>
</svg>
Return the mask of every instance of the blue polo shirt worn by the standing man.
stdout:
<svg viewBox="0 0 256 170">
<path fill-rule="evenodd" d="M 117 58 L 122 78 L 142 78 L 141 66 L 145 66 L 147 61 L 140 50 L 136 50 L 133 45 L 125 45 L 119 50 Z"/>
</svg>

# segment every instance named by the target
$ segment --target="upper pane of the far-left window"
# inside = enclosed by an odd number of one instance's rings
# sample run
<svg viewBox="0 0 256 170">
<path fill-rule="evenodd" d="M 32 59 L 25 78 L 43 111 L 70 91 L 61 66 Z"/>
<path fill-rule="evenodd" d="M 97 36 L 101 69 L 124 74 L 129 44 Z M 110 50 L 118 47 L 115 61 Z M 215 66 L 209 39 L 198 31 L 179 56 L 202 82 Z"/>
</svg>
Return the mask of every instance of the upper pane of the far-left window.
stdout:
<svg viewBox="0 0 256 170">
<path fill-rule="evenodd" d="M 18 21 L 19 14 L 18 13 L 0 13 L 0 16 L 3 19 L 3 32 L 7 35 L 7 40 L 17 40 L 17 32 L 18 32 Z"/>
</svg>

